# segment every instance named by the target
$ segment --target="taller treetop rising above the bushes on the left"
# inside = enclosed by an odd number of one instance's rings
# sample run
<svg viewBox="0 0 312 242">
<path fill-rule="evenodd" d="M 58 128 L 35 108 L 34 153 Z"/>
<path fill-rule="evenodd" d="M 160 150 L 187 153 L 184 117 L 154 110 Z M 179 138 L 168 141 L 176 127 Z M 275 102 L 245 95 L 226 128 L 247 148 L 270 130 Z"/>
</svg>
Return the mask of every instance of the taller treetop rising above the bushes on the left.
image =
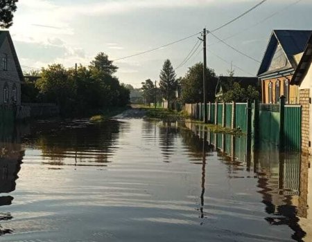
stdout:
<svg viewBox="0 0 312 242">
<path fill-rule="evenodd" d="M 117 66 L 114 66 L 113 61 L 108 59 L 108 55 L 101 52 L 96 55 L 94 60 L 90 63 L 91 71 L 100 71 L 101 73 L 105 73 L 107 75 L 113 75 L 118 70 Z"/>
</svg>

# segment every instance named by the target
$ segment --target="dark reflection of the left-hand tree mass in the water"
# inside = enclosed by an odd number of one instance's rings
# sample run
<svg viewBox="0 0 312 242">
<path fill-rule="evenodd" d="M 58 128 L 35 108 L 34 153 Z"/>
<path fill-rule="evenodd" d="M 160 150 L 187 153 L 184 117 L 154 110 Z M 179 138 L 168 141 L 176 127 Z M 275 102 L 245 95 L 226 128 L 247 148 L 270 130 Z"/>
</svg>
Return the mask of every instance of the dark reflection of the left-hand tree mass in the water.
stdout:
<svg viewBox="0 0 312 242">
<path fill-rule="evenodd" d="M 103 124 L 87 122 L 39 122 L 33 127 L 33 142 L 49 163 L 64 165 L 65 158 L 76 162 L 109 162 L 110 153 L 119 138 L 120 122 Z M 53 165 L 51 163 L 51 165 Z"/>
</svg>

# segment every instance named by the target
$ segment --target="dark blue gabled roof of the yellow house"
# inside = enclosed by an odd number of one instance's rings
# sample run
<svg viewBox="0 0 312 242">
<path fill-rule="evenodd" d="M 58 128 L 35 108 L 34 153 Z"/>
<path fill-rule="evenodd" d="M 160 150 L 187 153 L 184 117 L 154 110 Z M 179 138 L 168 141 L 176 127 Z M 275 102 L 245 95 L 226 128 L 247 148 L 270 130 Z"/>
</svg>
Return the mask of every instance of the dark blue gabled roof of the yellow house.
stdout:
<svg viewBox="0 0 312 242">
<path fill-rule="evenodd" d="M 270 65 L 277 43 L 281 44 L 281 48 L 283 48 L 291 67 L 295 70 L 297 64 L 295 59 L 293 59 L 293 55 L 304 51 L 311 34 L 312 30 L 273 30 L 257 76 L 268 71 L 268 65 Z"/>
</svg>

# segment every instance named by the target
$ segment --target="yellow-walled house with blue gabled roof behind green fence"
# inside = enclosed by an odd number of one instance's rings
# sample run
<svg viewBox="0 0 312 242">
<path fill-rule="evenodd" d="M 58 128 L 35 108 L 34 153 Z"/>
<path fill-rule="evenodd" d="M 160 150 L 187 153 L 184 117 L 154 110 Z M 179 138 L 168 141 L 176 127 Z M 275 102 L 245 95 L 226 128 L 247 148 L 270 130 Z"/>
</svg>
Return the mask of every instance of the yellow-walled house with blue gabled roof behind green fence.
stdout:
<svg viewBox="0 0 312 242">
<path fill-rule="evenodd" d="M 286 97 L 287 104 L 300 102 L 298 86 L 290 82 L 311 33 L 312 30 L 272 31 L 257 74 L 263 103 L 278 103 L 281 95 Z"/>
</svg>

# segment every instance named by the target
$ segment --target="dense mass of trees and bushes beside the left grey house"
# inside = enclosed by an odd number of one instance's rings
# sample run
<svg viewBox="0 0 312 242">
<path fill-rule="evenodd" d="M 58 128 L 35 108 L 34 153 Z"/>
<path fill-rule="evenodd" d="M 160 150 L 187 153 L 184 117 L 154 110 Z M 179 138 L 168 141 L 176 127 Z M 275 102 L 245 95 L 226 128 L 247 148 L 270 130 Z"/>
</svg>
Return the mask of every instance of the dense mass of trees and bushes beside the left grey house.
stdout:
<svg viewBox="0 0 312 242">
<path fill-rule="evenodd" d="M 114 73 L 118 67 L 104 53 L 98 53 L 89 66 L 64 68 L 53 64 L 30 73 L 22 85 L 22 102 L 53 102 L 63 116 L 93 115 L 130 102 L 130 91 Z M 34 81 L 35 80 L 35 81 Z"/>
</svg>

